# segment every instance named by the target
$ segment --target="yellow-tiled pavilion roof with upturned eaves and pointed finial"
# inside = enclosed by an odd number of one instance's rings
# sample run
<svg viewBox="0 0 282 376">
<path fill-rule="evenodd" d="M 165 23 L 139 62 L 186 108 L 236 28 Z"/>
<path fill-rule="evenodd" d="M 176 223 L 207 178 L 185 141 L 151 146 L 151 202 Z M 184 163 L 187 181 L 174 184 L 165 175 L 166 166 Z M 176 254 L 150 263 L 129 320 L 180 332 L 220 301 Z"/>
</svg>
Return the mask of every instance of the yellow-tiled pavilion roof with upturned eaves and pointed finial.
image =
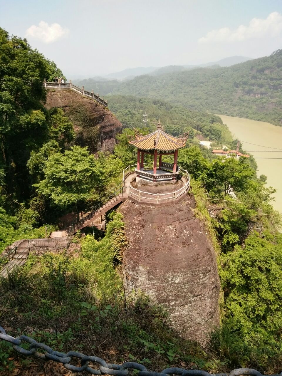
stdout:
<svg viewBox="0 0 282 376">
<path fill-rule="evenodd" d="M 158 152 L 174 152 L 181 149 L 186 144 L 187 137 L 174 137 L 168 135 L 162 130 L 161 123 L 159 121 L 158 127 L 155 132 L 149 135 L 143 136 L 135 134 L 135 139 L 129 140 L 129 143 L 136 146 L 139 150 Z"/>
</svg>

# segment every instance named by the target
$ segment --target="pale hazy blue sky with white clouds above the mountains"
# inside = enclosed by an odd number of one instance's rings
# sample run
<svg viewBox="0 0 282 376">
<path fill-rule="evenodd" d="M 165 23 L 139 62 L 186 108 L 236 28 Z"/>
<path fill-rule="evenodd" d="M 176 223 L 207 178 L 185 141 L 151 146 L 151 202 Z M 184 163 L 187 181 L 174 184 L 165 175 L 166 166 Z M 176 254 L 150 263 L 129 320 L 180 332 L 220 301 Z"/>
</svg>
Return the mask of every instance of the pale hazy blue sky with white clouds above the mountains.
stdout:
<svg viewBox="0 0 282 376">
<path fill-rule="evenodd" d="M 282 0 L 0 0 L 0 26 L 68 78 L 282 48 Z"/>
</svg>

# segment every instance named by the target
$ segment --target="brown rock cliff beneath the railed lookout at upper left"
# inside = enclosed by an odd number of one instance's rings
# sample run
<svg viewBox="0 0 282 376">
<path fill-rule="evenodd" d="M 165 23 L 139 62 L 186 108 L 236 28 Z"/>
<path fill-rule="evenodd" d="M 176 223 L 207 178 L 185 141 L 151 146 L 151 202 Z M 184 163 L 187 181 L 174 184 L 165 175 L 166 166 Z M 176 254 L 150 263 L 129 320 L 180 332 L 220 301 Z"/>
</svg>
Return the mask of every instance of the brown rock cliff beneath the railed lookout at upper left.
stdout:
<svg viewBox="0 0 282 376">
<path fill-rule="evenodd" d="M 48 90 L 45 107 L 62 107 L 74 125 L 75 144 L 88 146 L 92 153 L 114 150 L 122 124 L 99 103 L 72 90 Z"/>
</svg>

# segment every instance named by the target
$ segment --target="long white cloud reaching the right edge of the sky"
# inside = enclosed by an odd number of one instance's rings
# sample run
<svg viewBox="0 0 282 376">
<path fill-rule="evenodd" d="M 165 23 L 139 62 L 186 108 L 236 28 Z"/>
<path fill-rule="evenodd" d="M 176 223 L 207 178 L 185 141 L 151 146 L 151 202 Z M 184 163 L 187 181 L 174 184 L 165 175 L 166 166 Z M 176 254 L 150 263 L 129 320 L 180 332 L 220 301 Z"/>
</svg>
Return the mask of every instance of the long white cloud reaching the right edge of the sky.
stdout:
<svg viewBox="0 0 282 376">
<path fill-rule="evenodd" d="M 273 12 L 265 19 L 253 18 L 248 26 L 240 25 L 233 31 L 229 27 L 212 30 L 206 36 L 198 39 L 198 42 L 239 42 L 250 38 L 274 37 L 281 32 L 282 15 L 278 12 Z"/>
</svg>

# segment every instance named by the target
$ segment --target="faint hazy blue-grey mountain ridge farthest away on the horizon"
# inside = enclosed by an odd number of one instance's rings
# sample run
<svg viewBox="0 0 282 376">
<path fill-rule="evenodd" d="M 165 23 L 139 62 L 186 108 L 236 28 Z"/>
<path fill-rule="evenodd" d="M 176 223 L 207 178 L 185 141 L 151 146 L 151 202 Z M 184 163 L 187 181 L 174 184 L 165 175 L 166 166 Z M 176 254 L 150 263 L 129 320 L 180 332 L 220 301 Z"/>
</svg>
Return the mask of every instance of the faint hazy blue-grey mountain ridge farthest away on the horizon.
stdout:
<svg viewBox="0 0 282 376">
<path fill-rule="evenodd" d="M 209 62 L 205 64 L 197 64 L 197 65 L 168 65 L 165 67 L 137 67 L 137 68 L 126 68 L 120 72 L 109 73 L 102 77 L 94 77 L 96 80 L 103 79 L 108 80 L 131 80 L 136 76 L 143 76 L 144 74 L 164 74 L 170 73 L 175 71 L 183 71 L 186 69 L 193 69 L 197 67 L 212 67 L 212 66 L 220 66 L 220 67 L 230 67 L 230 65 L 242 63 L 244 61 L 250 60 L 251 58 L 246 58 L 246 56 L 230 56 L 229 58 L 221 59 L 214 62 Z"/>
</svg>

